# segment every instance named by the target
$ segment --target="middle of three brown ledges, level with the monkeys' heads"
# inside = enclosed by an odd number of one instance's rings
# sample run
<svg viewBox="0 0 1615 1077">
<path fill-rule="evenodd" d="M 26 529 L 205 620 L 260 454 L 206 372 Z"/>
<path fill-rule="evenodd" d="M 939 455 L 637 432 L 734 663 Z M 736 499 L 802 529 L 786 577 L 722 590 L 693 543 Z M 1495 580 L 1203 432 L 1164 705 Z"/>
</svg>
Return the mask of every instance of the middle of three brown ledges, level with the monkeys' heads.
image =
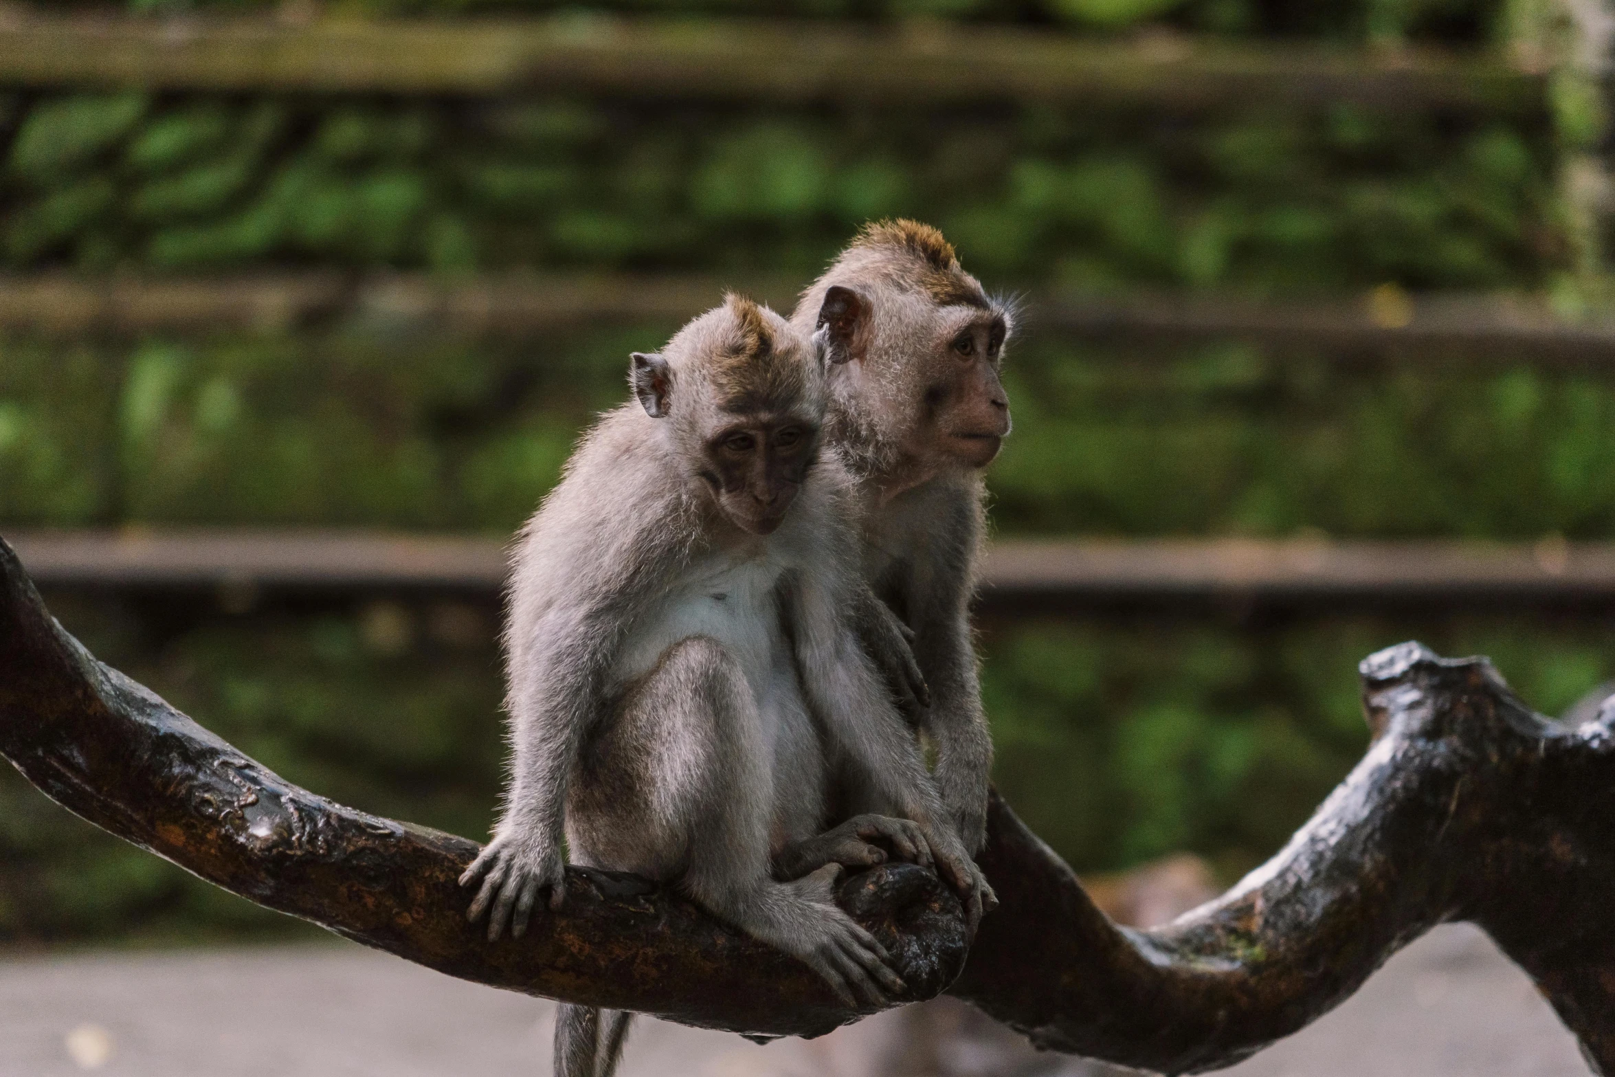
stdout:
<svg viewBox="0 0 1615 1077">
<path fill-rule="evenodd" d="M 0 333 L 60 337 L 289 333 L 333 320 L 454 336 L 528 336 L 556 326 L 678 323 L 727 287 L 790 310 L 793 279 L 510 274 L 439 281 L 313 271 L 252 278 L 0 276 Z M 1255 302 L 1210 295 L 1032 292 L 1032 334 L 1130 347 L 1237 339 L 1402 362 L 1615 363 L 1615 320 L 1575 320 L 1523 295 L 1371 292 L 1355 300 Z"/>
</svg>

